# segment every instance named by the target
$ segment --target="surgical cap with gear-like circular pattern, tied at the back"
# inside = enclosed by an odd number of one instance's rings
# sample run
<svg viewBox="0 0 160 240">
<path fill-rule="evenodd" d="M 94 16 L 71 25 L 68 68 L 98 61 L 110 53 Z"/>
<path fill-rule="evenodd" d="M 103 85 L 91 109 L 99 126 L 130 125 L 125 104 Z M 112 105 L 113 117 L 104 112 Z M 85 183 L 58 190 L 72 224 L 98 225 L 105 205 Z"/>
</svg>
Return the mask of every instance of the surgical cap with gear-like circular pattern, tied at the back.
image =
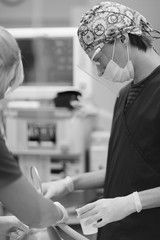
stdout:
<svg viewBox="0 0 160 240">
<path fill-rule="evenodd" d="M 114 2 L 101 2 L 87 11 L 78 28 L 78 38 L 86 53 L 127 33 L 141 36 L 154 30 L 139 12 Z"/>
</svg>

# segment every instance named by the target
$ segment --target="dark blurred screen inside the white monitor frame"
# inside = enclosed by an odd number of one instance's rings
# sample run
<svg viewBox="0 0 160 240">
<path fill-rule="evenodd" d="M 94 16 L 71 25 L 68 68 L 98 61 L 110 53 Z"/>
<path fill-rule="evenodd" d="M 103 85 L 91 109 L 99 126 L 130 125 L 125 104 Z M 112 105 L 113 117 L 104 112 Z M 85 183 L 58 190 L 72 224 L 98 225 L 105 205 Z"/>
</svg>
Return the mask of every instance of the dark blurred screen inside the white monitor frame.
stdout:
<svg viewBox="0 0 160 240">
<path fill-rule="evenodd" d="M 24 66 L 23 85 L 73 86 L 73 38 L 17 39 Z"/>
</svg>

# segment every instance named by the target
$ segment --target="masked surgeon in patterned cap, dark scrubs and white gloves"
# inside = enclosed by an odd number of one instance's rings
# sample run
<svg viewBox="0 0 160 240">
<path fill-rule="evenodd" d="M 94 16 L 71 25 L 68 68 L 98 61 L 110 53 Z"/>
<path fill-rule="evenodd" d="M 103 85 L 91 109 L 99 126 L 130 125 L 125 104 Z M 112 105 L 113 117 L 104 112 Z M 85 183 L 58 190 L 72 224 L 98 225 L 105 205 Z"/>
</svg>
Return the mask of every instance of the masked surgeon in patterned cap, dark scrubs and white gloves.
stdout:
<svg viewBox="0 0 160 240">
<path fill-rule="evenodd" d="M 103 187 L 102 199 L 78 209 L 99 240 L 160 238 L 159 37 L 139 12 L 115 2 L 93 6 L 80 21 L 80 44 L 99 77 L 126 85 L 115 102 L 106 170 L 45 183 L 43 191 L 51 198 Z"/>
</svg>

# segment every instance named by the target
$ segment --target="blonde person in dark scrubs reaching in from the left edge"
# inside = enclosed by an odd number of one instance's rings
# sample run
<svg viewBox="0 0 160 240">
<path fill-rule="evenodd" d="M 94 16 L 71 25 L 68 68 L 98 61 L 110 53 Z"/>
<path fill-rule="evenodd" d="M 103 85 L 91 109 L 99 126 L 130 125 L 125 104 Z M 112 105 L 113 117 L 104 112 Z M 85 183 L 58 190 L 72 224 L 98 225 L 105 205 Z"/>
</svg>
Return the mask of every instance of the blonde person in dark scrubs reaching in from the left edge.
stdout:
<svg viewBox="0 0 160 240">
<path fill-rule="evenodd" d="M 0 27 L 0 99 L 23 82 L 21 52 L 14 37 Z M 29 227 L 44 228 L 68 219 L 67 211 L 58 202 L 39 194 L 23 175 L 16 159 L 0 133 L 0 202 L 15 216 L 0 217 L 0 239 L 11 229 L 26 231 Z"/>
</svg>

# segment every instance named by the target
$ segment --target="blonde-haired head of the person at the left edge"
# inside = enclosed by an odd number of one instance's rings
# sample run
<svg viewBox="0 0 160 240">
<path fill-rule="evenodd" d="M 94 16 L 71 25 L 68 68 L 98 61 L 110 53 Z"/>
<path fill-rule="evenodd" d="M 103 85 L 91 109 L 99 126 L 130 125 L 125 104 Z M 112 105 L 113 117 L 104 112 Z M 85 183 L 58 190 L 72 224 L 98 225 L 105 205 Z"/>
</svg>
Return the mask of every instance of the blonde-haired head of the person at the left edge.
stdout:
<svg viewBox="0 0 160 240">
<path fill-rule="evenodd" d="M 15 38 L 0 27 L 0 99 L 23 82 L 21 52 Z"/>
</svg>

